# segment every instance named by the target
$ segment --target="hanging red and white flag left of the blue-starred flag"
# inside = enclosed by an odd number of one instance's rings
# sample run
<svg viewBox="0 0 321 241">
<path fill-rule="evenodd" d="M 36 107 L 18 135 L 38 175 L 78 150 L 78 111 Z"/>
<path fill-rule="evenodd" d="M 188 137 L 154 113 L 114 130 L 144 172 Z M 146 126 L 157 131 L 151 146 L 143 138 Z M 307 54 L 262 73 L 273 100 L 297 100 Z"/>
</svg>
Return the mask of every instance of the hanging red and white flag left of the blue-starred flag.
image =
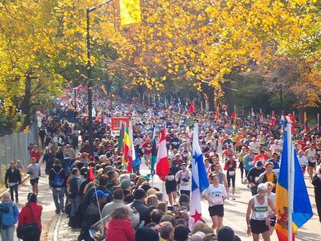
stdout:
<svg viewBox="0 0 321 241">
<path fill-rule="evenodd" d="M 170 167 L 168 166 L 166 135 L 164 126 L 162 131 L 160 131 L 160 140 L 156 159 L 156 174 L 159 176 L 160 180 L 165 182 L 165 177 L 168 175 L 169 171 Z"/>
</svg>

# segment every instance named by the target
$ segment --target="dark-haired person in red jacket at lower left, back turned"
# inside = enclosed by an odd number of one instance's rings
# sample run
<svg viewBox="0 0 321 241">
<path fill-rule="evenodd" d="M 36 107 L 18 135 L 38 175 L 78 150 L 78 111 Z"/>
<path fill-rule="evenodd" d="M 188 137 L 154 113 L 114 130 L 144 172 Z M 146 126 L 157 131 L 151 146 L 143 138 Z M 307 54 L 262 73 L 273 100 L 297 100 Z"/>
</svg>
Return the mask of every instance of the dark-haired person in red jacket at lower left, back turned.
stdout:
<svg viewBox="0 0 321 241">
<path fill-rule="evenodd" d="M 35 160 L 36 163 L 36 160 Z M 39 228 L 39 233 L 35 236 L 29 235 L 23 241 L 39 241 L 41 235 L 41 213 L 43 212 L 43 207 L 37 204 L 37 196 L 35 193 L 28 193 L 28 203 L 22 207 L 19 214 L 19 221 L 17 230 L 27 224 L 36 224 Z"/>
</svg>

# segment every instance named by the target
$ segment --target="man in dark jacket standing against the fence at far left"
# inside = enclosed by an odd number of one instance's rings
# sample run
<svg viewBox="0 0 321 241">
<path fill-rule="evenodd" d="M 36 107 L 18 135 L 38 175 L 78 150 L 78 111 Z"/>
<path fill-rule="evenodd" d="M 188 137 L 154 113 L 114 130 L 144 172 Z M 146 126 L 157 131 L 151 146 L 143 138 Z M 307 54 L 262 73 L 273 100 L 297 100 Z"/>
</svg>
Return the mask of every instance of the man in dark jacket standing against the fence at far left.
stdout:
<svg viewBox="0 0 321 241">
<path fill-rule="evenodd" d="M 14 200 L 13 193 L 15 193 L 15 202 L 19 203 L 18 185 L 21 184 L 21 173 L 20 170 L 16 168 L 14 161 L 10 162 L 10 168 L 6 170 L 4 183 L 6 184 L 7 188 L 10 188 L 11 200 Z"/>
</svg>

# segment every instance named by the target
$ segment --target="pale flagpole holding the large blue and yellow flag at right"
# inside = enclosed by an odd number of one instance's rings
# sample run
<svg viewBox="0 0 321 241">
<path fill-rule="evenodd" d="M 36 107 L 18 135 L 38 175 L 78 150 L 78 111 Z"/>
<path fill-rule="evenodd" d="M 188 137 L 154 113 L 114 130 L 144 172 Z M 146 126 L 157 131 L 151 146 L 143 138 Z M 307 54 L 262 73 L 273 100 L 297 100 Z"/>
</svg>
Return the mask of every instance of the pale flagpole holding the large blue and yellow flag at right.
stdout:
<svg viewBox="0 0 321 241">
<path fill-rule="evenodd" d="M 292 241 L 292 213 L 294 195 L 294 149 L 292 147 L 292 124 L 288 123 L 288 241 Z"/>
</svg>

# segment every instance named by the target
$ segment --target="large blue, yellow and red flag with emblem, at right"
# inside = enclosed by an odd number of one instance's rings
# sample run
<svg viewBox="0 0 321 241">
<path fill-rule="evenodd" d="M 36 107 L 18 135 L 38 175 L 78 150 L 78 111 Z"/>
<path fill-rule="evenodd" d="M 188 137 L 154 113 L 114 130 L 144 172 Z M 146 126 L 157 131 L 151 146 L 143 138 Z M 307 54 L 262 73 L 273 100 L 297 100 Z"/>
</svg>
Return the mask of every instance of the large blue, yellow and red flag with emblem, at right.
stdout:
<svg viewBox="0 0 321 241">
<path fill-rule="evenodd" d="M 292 240 L 294 240 L 294 233 L 297 232 L 297 229 L 304 225 L 308 219 L 311 219 L 313 214 L 297 153 L 293 149 L 292 136 L 290 143 L 288 143 L 288 135 L 289 132 L 285 131 L 280 175 L 276 184 L 276 233 L 279 241 L 288 241 L 288 214 L 291 210 Z M 292 166 L 291 170 L 294 168 L 290 171 L 290 180 L 293 180 L 290 183 L 288 182 L 288 165 Z M 290 192 L 290 200 L 293 200 L 290 207 L 288 192 Z M 293 207 L 291 207 L 292 205 Z"/>
</svg>

